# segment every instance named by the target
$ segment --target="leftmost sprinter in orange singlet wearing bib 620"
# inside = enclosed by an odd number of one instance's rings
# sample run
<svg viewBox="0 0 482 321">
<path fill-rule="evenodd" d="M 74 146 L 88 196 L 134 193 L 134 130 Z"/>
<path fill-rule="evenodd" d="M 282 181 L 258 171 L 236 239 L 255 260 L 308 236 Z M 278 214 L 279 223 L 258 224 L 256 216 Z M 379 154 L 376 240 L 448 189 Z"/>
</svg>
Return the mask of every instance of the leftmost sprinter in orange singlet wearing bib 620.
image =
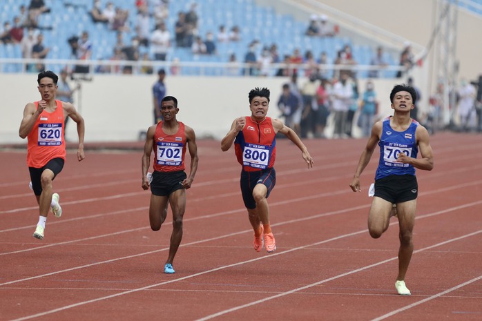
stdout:
<svg viewBox="0 0 482 321">
<path fill-rule="evenodd" d="M 27 165 L 32 189 L 39 204 L 39 222 L 33 236 L 44 239 L 48 210 L 56 217 L 62 215 L 60 196 L 52 191 L 52 182 L 64 168 L 66 143 L 64 139 L 65 119 L 70 117 L 77 123 L 79 147 L 77 159 L 84 155 L 84 119 L 73 104 L 55 99 L 59 77 L 54 72 L 42 71 L 37 77 L 40 101 L 28 103 L 23 109 L 19 135 L 28 139 Z"/>
</svg>

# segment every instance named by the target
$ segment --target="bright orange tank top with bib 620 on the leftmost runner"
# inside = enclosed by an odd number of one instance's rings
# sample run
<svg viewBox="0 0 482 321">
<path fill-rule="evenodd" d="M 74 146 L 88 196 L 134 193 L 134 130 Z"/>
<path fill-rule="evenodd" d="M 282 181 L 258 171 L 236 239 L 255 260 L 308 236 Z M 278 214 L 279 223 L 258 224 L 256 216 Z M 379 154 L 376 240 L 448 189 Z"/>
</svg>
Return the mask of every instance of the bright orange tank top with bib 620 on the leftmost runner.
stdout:
<svg viewBox="0 0 482 321">
<path fill-rule="evenodd" d="M 52 113 L 44 110 L 27 136 L 27 165 L 42 168 L 51 159 L 66 159 L 66 143 L 64 140 L 64 107 L 55 100 L 57 108 Z M 35 101 L 38 108 L 39 102 Z"/>
</svg>

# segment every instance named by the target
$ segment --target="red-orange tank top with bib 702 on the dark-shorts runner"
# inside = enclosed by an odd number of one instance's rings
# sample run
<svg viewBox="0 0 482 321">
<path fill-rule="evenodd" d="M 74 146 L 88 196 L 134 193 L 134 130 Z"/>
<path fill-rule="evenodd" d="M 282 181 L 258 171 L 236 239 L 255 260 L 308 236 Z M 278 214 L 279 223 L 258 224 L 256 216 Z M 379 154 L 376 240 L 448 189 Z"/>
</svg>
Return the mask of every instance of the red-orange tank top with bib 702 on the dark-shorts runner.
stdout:
<svg viewBox="0 0 482 321">
<path fill-rule="evenodd" d="M 154 171 L 176 172 L 184 171 L 184 155 L 186 155 L 186 133 L 184 124 L 179 122 L 179 130 L 174 135 L 167 135 L 162 130 L 160 121 L 154 133 Z"/>
</svg>

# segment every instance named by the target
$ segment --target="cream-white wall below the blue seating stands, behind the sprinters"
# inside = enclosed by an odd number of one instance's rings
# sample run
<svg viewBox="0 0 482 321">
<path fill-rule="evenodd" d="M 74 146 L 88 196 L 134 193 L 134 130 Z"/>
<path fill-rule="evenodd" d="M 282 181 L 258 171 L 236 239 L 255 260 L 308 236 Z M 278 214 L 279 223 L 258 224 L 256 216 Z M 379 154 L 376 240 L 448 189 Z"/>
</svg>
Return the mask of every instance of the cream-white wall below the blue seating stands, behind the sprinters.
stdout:
<svg viewBox="0 0 482 321">
<path fill-rule="evenodd" d="M 153 123 L 151 88 L 156 76 L 95 75 L 81 81 L 75 106 L 86 120 L 86 142 L 133 142 Z M 221 139 L 233 119 L 249 115 L 248 93 L 254 87 L 271 90 L 270 117 L 279 117 L 276 103 L 287 78 L 253 77 L 166 77 L 168 95 L 179 101 L 180 121 L 193 127 L 197 137 Z M 307 79 L 299 79 L 302 86 Z M 380 117 L 390 115 L 389 91 L 401 79 L 376 79 Z M 5 89 L 1 102 L 0 144 L 26 144 L 18 135 L 23 108 L 40 98 L 37 75 L 3 74 L 0 88 Z M 359 83 L 360 90 L 365 81 Z M 7 89 L 8 88 L 8 89 Z M 6 94 L 8 93 L 8 95 Z M 75 123 L 70 121 L 66 138 L 77 141 Z M 331 133 L 327 128 L 327 135 Z M 357 132 L 356 132 L 357 133 Z M 355 134 L 356 134 L 355 133 Z"/>
</svg>

